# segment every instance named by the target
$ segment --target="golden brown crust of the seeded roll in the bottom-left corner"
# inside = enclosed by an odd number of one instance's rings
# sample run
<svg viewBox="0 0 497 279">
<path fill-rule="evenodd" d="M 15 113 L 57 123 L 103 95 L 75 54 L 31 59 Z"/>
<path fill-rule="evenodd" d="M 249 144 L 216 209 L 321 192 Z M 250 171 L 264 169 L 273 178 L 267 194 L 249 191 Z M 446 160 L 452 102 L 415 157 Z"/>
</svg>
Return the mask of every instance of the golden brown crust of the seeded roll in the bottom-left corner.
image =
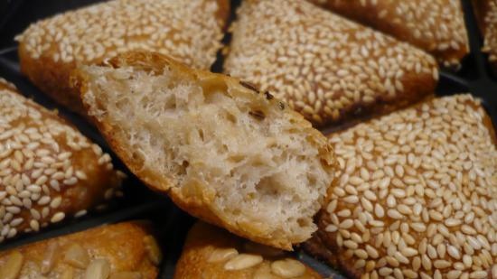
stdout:
<svg viewBox="0 0 497 279">
<path fill-rule="evenodd" d="M 104 259 L 110 267 L 110 276 L 130 272 L 141 274 L 138 278 L 155 279 L 158 270 L 154 257 L 149 254 L 151 248 L 155 249 L 150 246 L 154 242 L 150 239 L 153 239 L 150 229 L 141 222 L 91 228 L 1 252 L 0 274 L 5 274 L 6 269 L 12 268 L 12 265 L 7 264 L 9 257 L 20 253 L 22 268 L 18 276 L 14 278 L 24 278 L 23 276 L 35 278 L 42 275 L 49 278 L 61 278 L 61 274 L 68 270 L 72 271 L 74 278 L 80 278 L 79 276 L 86 272 L 93 260 Z M 82 251 L 83 256 L 75 258 L 69 256 L 70 248 Z M 53 256 L 49 256 L 51 249 L 54 250 Z M 78 258 L 81 261 L 74 264 L 70 258 L 72 260 Z"/>
</svg>

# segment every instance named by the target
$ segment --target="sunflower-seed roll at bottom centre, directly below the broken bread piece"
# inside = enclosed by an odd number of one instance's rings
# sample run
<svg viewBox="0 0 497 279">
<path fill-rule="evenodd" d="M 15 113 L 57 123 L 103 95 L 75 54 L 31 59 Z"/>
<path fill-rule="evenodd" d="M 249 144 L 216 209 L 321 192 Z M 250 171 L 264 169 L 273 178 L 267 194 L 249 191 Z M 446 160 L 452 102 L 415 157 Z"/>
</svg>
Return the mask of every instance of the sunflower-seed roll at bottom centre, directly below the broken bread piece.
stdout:
<svg viewBox="0 0 497 279">
<path fill-rule="evenodd" d="M 320 279 L 282 250 L 198 222 L 188 233 L 173 279 Z"/>
</svg>

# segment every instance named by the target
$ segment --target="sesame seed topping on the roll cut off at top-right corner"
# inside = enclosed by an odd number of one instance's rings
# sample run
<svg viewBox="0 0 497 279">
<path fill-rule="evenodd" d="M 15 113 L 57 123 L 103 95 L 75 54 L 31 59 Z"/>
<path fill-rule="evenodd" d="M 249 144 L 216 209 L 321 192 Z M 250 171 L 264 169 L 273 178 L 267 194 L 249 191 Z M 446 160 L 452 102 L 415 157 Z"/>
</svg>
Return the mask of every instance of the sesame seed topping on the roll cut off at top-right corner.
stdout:
<svg viewBox="0 0 497 279">
<path fill-rule="evenodd" d="M 488 1 L 488 10 L 485 11 L 483 23 L 485 24 L 482 51 L 489 53 L 491 62 L 497 61 L 497 1 Z"/>
</svg>

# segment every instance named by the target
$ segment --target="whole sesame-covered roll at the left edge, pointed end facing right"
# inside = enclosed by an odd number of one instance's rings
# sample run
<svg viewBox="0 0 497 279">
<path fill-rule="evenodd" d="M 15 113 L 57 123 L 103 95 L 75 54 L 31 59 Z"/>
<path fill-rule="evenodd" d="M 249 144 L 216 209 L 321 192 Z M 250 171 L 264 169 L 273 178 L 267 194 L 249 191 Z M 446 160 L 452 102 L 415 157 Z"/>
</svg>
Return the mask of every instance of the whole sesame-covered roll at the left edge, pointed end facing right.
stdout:
<svg viewBox="0 0 497 279">
<path fill-rule="evenodd" d="M 123 177 L 97 144 L 0 79 L 0 242 L 103 205 Z"/>
</svg>

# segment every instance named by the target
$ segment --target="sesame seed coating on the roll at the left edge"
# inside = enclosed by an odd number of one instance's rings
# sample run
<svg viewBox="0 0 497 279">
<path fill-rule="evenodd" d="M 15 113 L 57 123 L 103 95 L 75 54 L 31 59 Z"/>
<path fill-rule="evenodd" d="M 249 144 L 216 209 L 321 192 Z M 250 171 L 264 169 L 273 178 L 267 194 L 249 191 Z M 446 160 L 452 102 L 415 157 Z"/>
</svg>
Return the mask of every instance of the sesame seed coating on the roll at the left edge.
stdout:
<svg viewBox="0 0 497 279">
<path fill-rule="evenodd" d="M 65 177 L 74 168 L 72 154 L 94 152 L 80 132 L 11 88 L 0 88 L 0 111 L 0 185 L 5 189 L 0 191 L 3 241 L 17 232 L 46 227 L 48 223 L 42 219 L 49 216 L 49 208 L 60 208 L 64 199 L 51 191 L 67 190 L 70 185 L 61 185 L 63 180 L 78 180 Z M 82 179 L 86 171 L 84 166 L 74 175 Z"/>
</svg>

